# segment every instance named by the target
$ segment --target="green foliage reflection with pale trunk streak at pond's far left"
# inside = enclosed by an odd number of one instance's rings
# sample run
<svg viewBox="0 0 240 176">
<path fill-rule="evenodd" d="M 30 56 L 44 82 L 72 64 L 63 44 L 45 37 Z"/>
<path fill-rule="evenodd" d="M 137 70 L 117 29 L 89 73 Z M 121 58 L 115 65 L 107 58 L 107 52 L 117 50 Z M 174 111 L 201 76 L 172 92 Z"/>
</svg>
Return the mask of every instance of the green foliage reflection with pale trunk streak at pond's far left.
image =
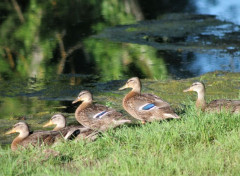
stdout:
<svg viewBox="0 0 240 176">
<path fill-rule="evenodd" d="M 0 27 L 0 74 L 17 77 L 44 77 L 47 65 L 42 62 L 52 56 L 57 42 L 40 35 L 44 24 L 43 3 L 29 1 L 21 23 L 14 9 L 9 10 Z M 0 75 L 0 76 L 1 76 Z"/>
</svg>

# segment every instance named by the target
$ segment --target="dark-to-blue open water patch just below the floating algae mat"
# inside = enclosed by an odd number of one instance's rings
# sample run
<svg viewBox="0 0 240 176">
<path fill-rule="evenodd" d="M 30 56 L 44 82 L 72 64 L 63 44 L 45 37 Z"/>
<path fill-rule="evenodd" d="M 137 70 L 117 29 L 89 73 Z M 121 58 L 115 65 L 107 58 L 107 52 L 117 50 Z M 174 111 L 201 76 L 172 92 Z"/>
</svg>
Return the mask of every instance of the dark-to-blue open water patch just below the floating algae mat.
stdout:
<svg viewBox="0 0 240 176">
<path fill-rule="evenodd" d="M 240 58 L 229 53 L 212 51 L 211 54 L 197 52 L 159 52 L 165 59 L 167 70 L 175 79 L 189 78 L 216 70 L 239 72 Z"/>
</svg>

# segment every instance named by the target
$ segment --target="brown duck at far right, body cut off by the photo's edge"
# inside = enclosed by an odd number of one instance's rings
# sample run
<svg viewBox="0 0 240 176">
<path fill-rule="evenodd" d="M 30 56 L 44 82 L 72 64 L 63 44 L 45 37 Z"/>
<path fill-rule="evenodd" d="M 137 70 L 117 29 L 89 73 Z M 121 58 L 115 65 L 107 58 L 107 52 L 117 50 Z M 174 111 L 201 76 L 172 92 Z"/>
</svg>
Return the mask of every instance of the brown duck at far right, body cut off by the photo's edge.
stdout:
<svg viewBox="0 0 240 176">
<path fill-rule="evenodd" d="M 196 101 L 196 107 L 202 111 L 216 111 L 230 110 L 232 113 L 240 112 L 240 101 L 239 100 L 213 100 L 210 103 L 205 101 L 205 85 L 201 82 L 194 82 L 191 87 L 184 90 L 183 92 L 195 91 L 198 94 Z"/>
</svg>

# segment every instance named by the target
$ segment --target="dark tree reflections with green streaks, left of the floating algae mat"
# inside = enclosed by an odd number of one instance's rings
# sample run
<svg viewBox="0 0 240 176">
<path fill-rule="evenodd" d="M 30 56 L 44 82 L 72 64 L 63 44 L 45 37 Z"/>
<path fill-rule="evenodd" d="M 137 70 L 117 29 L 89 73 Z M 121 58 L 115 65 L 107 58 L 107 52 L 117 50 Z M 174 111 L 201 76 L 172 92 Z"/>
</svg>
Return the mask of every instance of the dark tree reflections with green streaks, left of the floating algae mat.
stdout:
<svg viewBox="0 0 240 176">
<path fill-rule="evenodd" d="M 95 74 L 101 80 L 124 75 L 164 79 L 167 69 L 156 50 L 91 35 L 184 9 L 194 11 L 188 0 L 3 0 L 0 79 L 62 73 Z"/>
</svg>

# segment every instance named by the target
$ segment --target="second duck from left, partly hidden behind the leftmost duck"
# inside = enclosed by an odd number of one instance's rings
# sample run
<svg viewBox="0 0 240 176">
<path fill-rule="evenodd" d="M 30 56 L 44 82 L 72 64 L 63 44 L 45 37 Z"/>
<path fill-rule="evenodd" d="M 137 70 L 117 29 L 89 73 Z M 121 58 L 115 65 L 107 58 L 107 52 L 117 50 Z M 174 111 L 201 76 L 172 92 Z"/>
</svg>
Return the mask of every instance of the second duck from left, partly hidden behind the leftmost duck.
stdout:
<svg viewBox="0 0 240 176">
<path fill-rule="evenodd" d="M 51 117 L 43 127 L 56 125 L 53 131 L 59 131 L 60 135 L 67 139 L 88 139 L 93 141 L 97 137 L 97 133 L 93 130 L 83 127 L 82 125 L 66 126 L 66 117 L 62 114 L 55 114 Z"/>
</svg>

